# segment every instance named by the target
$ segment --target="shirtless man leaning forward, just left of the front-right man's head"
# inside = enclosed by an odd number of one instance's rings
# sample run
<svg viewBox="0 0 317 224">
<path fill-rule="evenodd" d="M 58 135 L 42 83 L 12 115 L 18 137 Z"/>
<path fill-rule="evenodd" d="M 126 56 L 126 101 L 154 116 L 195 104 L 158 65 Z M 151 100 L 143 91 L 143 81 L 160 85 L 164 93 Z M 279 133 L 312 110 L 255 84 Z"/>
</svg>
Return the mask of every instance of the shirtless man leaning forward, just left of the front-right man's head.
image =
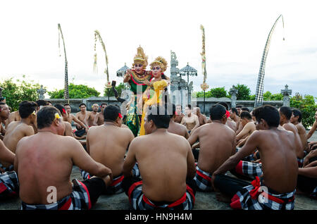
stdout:
<svg viewBox="0 0 317 224">
<path fill-rule="evenodd" d="M 240 123 L 243 129 L 237 135 L 237 147 L 242 147 L 247 142 L 248 137 L 256 130 L 256 125 L 252 120 L 251 114 L 247 111 L 240 113 Z"/>
</svg>

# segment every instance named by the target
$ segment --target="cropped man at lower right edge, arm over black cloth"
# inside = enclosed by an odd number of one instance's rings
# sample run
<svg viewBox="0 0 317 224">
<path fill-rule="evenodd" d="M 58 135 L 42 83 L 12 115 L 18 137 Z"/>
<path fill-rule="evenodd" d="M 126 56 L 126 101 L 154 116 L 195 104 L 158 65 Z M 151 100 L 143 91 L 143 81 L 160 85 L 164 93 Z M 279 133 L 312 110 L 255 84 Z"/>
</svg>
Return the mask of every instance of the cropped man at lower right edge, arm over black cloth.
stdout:
<svg viewBox="0 0 317 224">
<path fill-rule="evenodd" d="M 304 159 L 303 168 L 298 169 L 297 192 L 317 199 L 317 150 L 311 151 Z"/>
</svg>

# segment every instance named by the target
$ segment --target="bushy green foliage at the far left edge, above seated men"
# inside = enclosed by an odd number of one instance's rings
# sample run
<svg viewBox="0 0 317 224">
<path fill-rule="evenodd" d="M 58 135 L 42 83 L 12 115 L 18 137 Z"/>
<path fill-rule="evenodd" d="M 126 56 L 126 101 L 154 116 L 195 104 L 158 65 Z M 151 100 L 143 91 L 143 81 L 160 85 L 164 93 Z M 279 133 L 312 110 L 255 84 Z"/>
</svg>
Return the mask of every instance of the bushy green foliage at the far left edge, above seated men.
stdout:
<svg viewBox="0 0 317 224">
<path fill-rule="evenodd" d="M 21 101 L 37 101 L 37 89 L 40 88 L 38 83 L 34 81 L 27 82 L 24 80 L 16 80 L 13 82 L 13 77 L 4 80 L 0 83 L 0 86 L 4 88 L 2 96 L 6 97 L 6 104 L 12 108 L 13 111 L 17 111 Z"/>
</svg>

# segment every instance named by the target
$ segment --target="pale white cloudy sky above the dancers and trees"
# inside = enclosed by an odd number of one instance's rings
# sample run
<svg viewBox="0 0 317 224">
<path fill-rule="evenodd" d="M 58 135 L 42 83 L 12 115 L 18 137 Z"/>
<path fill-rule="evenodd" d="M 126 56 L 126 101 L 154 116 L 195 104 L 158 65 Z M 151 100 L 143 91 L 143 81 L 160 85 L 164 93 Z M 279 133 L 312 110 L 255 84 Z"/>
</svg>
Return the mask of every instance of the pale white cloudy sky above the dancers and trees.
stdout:
<svg viewBox="0 0 317 224">
<path fill-rule="evenodd" d="M 316 2 L 316 1 L 315 1 Z M 64 86 L 61 24 L 68 59 L 68 80 L 94 87 L 103 95 L 105 56 L 97 43 L 98 73 L 93 72 L 94 30 L 106 45 L 110 80 L 132 66 L 139 45 L 154 61 L 170 51 L 178 68 L 197 69 L 189 78 L 201 91 L 201 30 L 206 36 L 207 84 L 210 88 L 244 84 L 255 94 L 263 49 L 279 15 L 266 59 L 264 92 L 280 93 L 285 85 L 317 97 L 317 30 L 314 1 L 1 1 L 0 80 L 33 80 L 47 91 Z M 283 41 L 285 37 L 285 41 Z M 60 55 L 61 52 L 61 56 Z M 170 75 L 170 67 L 166 75 Z M 149 69 L 149 66 L 147 67 Z M 47 96 L 47 95 L 46 95 Z"/>
</svg>

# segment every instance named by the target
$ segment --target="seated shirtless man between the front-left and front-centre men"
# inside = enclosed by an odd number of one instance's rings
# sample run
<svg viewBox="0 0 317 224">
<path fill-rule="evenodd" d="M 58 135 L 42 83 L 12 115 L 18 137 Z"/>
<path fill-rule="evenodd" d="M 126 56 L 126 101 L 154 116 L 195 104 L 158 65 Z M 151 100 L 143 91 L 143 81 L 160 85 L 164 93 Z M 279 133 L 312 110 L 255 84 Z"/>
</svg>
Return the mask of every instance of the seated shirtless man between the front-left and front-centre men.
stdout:
<svg viewBox="0 0 317 224">
<path fill-rule="evenodd" d="M 123 162 L 130 142 L 135 138 L 129 128 L 121 128 L 122 116 L 118 106 L 109 105 L 104 109 L 104 125 L 89 128 L 87 132 L 87 152 L 92 158 L 110 168 L 113 182 L 104 192 L 118 194 L 123 192 Z M 82 170 L 82 178 L 90 175 Z"/>
</svg>

